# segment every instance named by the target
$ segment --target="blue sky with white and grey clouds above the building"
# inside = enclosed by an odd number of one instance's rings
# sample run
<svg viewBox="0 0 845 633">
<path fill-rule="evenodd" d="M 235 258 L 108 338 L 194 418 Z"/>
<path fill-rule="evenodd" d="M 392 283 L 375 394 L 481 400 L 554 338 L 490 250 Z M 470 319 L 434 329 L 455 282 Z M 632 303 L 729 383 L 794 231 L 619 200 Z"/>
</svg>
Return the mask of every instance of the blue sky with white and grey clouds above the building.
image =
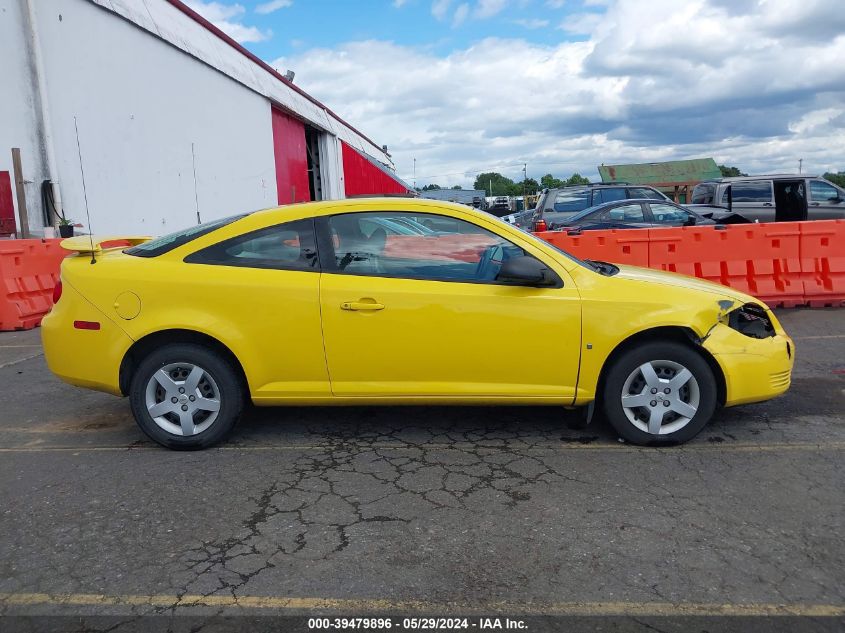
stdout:
<svg viewBox="0 0 845 633">
<path fill-rule="evenodd" d="M 843 0 L 188 4 L 418 186 L 704 156 L 845 170 Z"/>
</svg>

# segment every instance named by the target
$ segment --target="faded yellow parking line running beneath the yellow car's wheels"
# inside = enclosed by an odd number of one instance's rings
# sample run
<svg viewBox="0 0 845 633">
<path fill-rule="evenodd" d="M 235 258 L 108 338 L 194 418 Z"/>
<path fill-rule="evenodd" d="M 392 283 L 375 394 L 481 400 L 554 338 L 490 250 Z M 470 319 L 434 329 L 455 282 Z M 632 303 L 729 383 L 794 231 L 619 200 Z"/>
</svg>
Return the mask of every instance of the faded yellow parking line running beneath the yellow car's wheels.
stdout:
<svg viewBox="0 0 845 633">
<path fill-rule="evenodd" d="M 643 453 L 652 455 L 677 455 L 679 453 L 712 453 L 712 452 L 733 452 L 733 453 L 756 453 L 756 452 L 819 452 L 819 451 L 841 451 L 845 450 L 845 441 L 842 442 L 780 442 L 773 444 L 693 444 L 687 446 L 667 447 L 643 447 L 631 446 L 628 444 L 564 444 L 549 446 L 477 446 L 475 444 L 394 444 L 374 443 L 356 444 L 348 442 L 344 447 L 358 448 L 361 450 L 427 450 L 427 451 L 463 451 L 467 446 L 474 449 L 486 449 L 490 451 L 510 450 L 518 453 L 554 453 L 569 451 L 607 451 L 625 453 Z M 337 448 L 332 444 L 325 445 L 303 445 L 295 444 L 282 446 L 220 446 L 208 449 L 206 452 L 275 452 L 275 451 L 325 451 Z M 50 453 L 50 452 L 122 452 L 135 451 L 165 451 L 165 449 L 153 445 L 144 446 L 7 446 L 0 447 L 0 453 Z"/>
</svg>

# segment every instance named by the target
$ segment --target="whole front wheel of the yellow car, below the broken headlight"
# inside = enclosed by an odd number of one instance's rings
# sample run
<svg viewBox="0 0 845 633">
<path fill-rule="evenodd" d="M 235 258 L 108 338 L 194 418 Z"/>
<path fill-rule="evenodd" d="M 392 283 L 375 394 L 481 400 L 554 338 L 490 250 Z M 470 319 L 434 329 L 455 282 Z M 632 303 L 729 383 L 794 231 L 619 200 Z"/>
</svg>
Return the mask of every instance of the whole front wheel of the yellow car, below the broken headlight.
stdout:
<svg viewBox="0 0 845 633">
<path fill-rule="evenodd" d="M 605 414 L 623 439 L 678 444 L 695 437 L 713 416 L 716 380 L 695 350 L 648 343 L 616 359 L 603 396 Z"/>
</svg>

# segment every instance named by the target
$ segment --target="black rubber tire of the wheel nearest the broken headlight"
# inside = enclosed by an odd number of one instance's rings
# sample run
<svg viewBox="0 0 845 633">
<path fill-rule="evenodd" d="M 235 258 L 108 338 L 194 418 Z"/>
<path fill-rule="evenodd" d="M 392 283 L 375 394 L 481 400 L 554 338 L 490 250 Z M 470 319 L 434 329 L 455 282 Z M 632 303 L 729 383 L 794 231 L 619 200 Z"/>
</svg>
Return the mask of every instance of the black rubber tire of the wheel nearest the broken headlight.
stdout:
<svg viewBox="0 0 845 633">
<path fill-rule="evenodd" d="M 632 444 L 681 444 L 691 440 L 693 437 L 698 435 L 701 429 L 704 428 L 707 422 L 710 421 L 710 418 L 713 416 L 713 412 L 716 410 L 717 392 L 716 379 L 713 376 L 713 371 L 710 369 L 707 361 L 689 346 L 674 342 L 646 343 L 623 352 L 612 362 L 613 364 L 609 367 L 604 381 L 602 406 L 605 415 L 607 416 L 607 420 L 610 422 L 611 426 L 613 426 L 614 430 L 620 437 Z M 695 379 L 695 384 L 690 381 L 682 388 L 686 389 L 685 392 L 681 392 L 680 394 L 672 397 L 677 398 L 680 396 L 682 399 L 686 398 L 687 400 L 690 400 L 690 390 L 697 387 L 698 405 L 695 410 L 695 415 L 684 418 L 676 413 L 674 409 L 669 409 L 665 414 L 666 417 L 664 418 L 665 421 L 663 423 L 667 429 L 670 428 L 670 424 L 672 422 L 682 424 L 684 419 L 689 421 L 678 430 L 664 432 L 657 435 L 648 432 L 647 429 L 639 428 L 637 423 L 628 417 L 626 409 L 622 405 L 622 395 L 626 381 L 628 381 L 629 377 L 637 371 L 637 368 L 646 363 L 652 362 L 655 363 L 658 371 L 667 372 L 667 377 L 670 376 L 673 371 L 673 369 L 667 367 L 667 365 L 674 363 L 688 369 L 692 374 L 692 377 Z M 663 365 L 663 367 L 661 367 L 661 365 Z M 649 399 L 652 397 L 655 398 L 654 400 L 649 401 L 649 406 L 652 403 L 657 403 L 658 407 L 655 408 L 658 408 L 659 410 L 659 406 L 662 405 L 663 399 L 665 398 L 668 400 L 670 396 L 664 396 L 663 393 L 658 393 L 657 395 L 652 396 L 651 389 L 648 389 L 644 382 L 645 375 L 640 374 L 640 377 L 642 379 L 640 382 L 643 384 L 643 389 L 647 389 Z M 639 379 L 635 378 L 633 380 L 631 386 L 628 387 L 627 393 L 632 395 L 634 393 L 639 393 L 639 383 L 637 380 Z M 692 398 L 695 397 L 696 396 L 692 396 Z M 673 405 L 670 404 L 666 406 L 668 408 Z M 631 411 L 631 415 L 633 415 L 634 419 L 638 420 L 640 425 L 644 424 L 646 427 L 648 426 L 645 416 L 651 411 L 651 409 L 647 409 L 645 407 L 633 409 L 632 407 L 629 407 L 629 410 Z"/>
</svg>

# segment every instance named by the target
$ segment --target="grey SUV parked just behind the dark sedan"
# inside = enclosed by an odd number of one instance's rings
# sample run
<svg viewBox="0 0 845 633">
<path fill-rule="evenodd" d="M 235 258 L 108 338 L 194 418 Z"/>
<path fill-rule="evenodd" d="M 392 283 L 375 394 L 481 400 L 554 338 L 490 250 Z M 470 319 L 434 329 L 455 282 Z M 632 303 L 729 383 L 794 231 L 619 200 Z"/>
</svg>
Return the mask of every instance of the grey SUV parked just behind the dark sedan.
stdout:
<svg viewBox="0 0 845 633">
<path fill-rule="evenodd" d="M 544 189 L 533 209 L 502 218 L 521 229 L 533 231 L 543 220 L 546 226 L 566 224 L 566 221 L 584 209 L 604 202 L 643 198 L 647 200 L 669 200 L 657 189 L 628 183 L 572 185 L 557 189 Z"/>
</svg>

